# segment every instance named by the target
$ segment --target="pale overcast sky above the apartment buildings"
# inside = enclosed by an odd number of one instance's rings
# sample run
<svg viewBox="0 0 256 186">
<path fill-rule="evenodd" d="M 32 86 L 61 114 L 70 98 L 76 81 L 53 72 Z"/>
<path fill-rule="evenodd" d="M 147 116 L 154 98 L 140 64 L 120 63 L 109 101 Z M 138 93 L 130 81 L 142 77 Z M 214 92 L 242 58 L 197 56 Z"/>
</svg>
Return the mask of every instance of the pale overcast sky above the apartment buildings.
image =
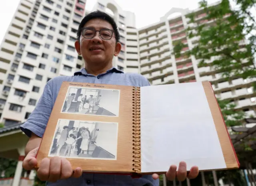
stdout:
<svg viewBox="0 0 256 186">
<path fill-rule="evenodd" d="M 148 24 L 158 22 L 159 18 L 164 16 L 171 8 L 189 8 L 193 10 L 198 8 L 200 0 L 157 0 L 157 3 L 148 0 L 116 0 L 123 10 L 134 12 L 136 15 L 136 27 L 141 28 Z M 208 0 L 209 3 L 217 0 Z M 19 4 L 20 0 L 0 0 L 0 42 L 12 20 L 12 16 Z M 92 10 L 97 0 L 87 0 L 86 10 Z"/>
</svg>

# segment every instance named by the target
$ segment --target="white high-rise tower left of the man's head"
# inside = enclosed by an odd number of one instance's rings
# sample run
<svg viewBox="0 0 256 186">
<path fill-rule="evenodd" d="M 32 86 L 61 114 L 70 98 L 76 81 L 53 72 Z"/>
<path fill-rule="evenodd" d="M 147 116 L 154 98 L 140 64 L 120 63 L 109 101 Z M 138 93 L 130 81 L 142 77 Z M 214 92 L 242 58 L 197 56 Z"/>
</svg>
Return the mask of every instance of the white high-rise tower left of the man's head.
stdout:
<svg viewBox="0 0 256 186">
<path fill-rule="evenodd" d="M 0 122 L 23 122 L 48 80 L 84 64 L 74 48 L 86 0 L 21 0 L 0 46 Z"/>
</svg>

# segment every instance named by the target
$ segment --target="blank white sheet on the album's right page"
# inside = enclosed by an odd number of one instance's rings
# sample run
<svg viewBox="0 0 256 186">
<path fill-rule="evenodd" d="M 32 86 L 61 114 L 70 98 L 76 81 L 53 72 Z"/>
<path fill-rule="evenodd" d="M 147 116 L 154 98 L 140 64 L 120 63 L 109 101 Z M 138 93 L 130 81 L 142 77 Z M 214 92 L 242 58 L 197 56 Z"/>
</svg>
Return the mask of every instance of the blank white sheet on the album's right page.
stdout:
<svg viewBox="0 0 256 186">
<path fill-rule="evenodd" d="M 202 82 L 140 88 L 141 172 L 226 168 Z"/>
</svg>

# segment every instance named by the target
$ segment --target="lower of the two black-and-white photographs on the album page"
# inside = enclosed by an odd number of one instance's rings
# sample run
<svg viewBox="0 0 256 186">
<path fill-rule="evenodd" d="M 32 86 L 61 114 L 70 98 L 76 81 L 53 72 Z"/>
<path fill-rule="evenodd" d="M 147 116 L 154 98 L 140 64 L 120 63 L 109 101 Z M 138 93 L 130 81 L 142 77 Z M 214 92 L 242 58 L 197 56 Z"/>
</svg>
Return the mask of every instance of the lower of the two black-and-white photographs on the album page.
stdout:
<svg viewBox="0 0 256 186">
<path fill-rule="evenodd" d="M 48 156 L 116 160 L 118 123 L 59 119 Z"/>
</svg>

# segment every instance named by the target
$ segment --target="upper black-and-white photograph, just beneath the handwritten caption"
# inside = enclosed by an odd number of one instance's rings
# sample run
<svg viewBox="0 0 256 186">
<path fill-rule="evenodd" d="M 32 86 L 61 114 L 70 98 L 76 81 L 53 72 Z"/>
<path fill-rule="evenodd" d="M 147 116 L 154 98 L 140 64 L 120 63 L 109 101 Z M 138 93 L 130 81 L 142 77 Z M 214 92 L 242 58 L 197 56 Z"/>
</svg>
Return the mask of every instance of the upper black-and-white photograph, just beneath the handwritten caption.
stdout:
<svg viewBox="0 0 256 186">
<path fill-rule="evenodd" d="M 62 113 L 118 117 L 119 98 L 120 90 L 70 86 Z"/>
</svg>

